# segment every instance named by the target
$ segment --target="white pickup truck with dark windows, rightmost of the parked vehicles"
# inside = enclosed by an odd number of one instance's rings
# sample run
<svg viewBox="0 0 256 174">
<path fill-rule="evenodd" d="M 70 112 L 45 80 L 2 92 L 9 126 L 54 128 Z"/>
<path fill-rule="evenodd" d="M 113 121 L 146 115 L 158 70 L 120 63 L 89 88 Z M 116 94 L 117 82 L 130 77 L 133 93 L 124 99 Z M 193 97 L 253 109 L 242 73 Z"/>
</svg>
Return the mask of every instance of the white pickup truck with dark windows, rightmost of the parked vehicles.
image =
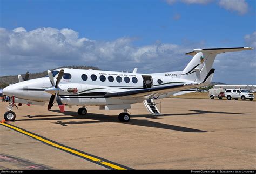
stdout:
<svg viewBox="0 0 256 174">
<path fill-rule="evenodd" d="M 252 101 L 254 98 L 254 95 L 253 93 L 250 93 L 245 89 L 226 89 L 225 97 L 228 100 L 231 100 L 232 98 L 235 100 L 238 100 L 239 98 L 241 98 L 242 100 L 249 99 L 250 101 Z"/>
</svg>

